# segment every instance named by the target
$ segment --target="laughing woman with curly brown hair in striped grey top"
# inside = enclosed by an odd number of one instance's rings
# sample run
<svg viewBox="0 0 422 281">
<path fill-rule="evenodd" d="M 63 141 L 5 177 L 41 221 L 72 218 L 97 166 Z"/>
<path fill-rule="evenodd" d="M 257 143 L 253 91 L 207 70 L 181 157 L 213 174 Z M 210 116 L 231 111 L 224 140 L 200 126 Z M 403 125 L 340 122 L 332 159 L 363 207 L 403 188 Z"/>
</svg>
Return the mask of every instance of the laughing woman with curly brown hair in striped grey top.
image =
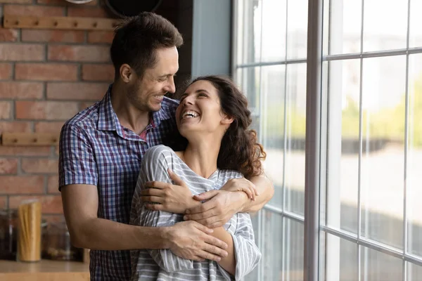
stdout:
<svg viewBox="0 0 422 281">
<path fill-rule="evenodd" d="M 248 101 L 231 80 L 216 76 L 195 79 L 181 96 L 176 120 L 179 133 L 188 141 L 186 150 L 174 152 L 158 145 L 146 152 L 132 201 L 136 210 L 132 224 L 172 226 L 183 221 L 183 214 L 151 211 L 140 200 L 143 183 L 172 183 L 169 169 L 188 185 L 192 195 L 220 189 L 230 178 L 262 173 L 265 153 L 255 131 L 248 129 Z M 193 198 L 189 202 L 192 207 L 201 204 Z M 229 255 L 218 263 L 182 259 L 168 249 L 132 251 L 132 280 L 241 280 L 257 266 L 261 253 L 249 214 L 235 214 L 212 235 L 229 245 Z"/>
</svg>

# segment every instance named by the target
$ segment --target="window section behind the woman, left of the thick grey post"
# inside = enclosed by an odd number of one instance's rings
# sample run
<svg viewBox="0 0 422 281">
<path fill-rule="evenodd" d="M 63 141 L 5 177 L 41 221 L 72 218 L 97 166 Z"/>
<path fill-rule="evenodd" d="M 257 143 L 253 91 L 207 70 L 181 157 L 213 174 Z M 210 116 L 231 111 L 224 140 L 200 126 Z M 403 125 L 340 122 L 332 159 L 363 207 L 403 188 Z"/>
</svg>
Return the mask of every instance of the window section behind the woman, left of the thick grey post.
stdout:
<svg viewBox="0 0 422 281">
<path fill-rule="evenodd" d="M 275 194 L 252 216 L 259 268 L 248 280 L 302 280 L 307 1 L 235 1 L 234 76 L 248 96 Z"/>
</svg>

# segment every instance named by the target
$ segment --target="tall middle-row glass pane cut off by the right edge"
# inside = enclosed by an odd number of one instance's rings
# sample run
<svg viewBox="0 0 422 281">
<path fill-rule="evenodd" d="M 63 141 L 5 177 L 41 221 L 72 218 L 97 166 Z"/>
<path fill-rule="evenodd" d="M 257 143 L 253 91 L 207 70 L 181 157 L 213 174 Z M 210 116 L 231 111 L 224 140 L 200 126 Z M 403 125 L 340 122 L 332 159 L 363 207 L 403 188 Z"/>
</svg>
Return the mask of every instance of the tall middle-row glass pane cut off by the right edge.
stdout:
<svg viewBox="0 0 422 281">
<path fill-rule="evenodd" d="M 401 107 L 404 107 L 402 98 Z M 407 152 L 407 247 L 422 257 L 422 54 L 409 56 L 409 150 Z"/>
</svg>

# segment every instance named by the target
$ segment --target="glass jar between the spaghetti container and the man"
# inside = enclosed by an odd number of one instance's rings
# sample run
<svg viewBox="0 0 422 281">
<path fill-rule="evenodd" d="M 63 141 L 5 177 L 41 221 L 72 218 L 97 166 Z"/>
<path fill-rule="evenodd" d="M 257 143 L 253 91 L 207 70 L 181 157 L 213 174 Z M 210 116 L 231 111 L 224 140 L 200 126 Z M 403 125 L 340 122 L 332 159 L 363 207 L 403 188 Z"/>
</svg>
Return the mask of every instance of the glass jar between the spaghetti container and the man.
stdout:
<svg viewBox="0 0 422 281">
<path fill-rule="evenodd" d="M 82 261 L 82 249 L 73 247 L 66 223 L 49 223 L 42 238 L 42 258 L 60 261 Z"/>
</svg>

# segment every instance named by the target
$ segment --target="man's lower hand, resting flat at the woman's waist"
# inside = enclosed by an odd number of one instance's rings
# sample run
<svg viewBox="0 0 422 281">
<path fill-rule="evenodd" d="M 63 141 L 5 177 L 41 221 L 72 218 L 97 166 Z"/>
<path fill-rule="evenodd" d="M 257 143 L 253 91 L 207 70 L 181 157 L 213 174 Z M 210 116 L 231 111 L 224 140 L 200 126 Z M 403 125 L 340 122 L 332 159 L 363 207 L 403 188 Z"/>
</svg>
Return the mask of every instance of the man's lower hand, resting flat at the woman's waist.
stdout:
<svg viewBox="0 0 422 281">
<path fill-rule="evenodd" d="M 173 254 L 193 261 L 220 261 L 227 256 L 227 244 L 212 237 L 212 229 L 195 221 L 182 221 L 170 226 L 169 249 Z"/>
</svg>

